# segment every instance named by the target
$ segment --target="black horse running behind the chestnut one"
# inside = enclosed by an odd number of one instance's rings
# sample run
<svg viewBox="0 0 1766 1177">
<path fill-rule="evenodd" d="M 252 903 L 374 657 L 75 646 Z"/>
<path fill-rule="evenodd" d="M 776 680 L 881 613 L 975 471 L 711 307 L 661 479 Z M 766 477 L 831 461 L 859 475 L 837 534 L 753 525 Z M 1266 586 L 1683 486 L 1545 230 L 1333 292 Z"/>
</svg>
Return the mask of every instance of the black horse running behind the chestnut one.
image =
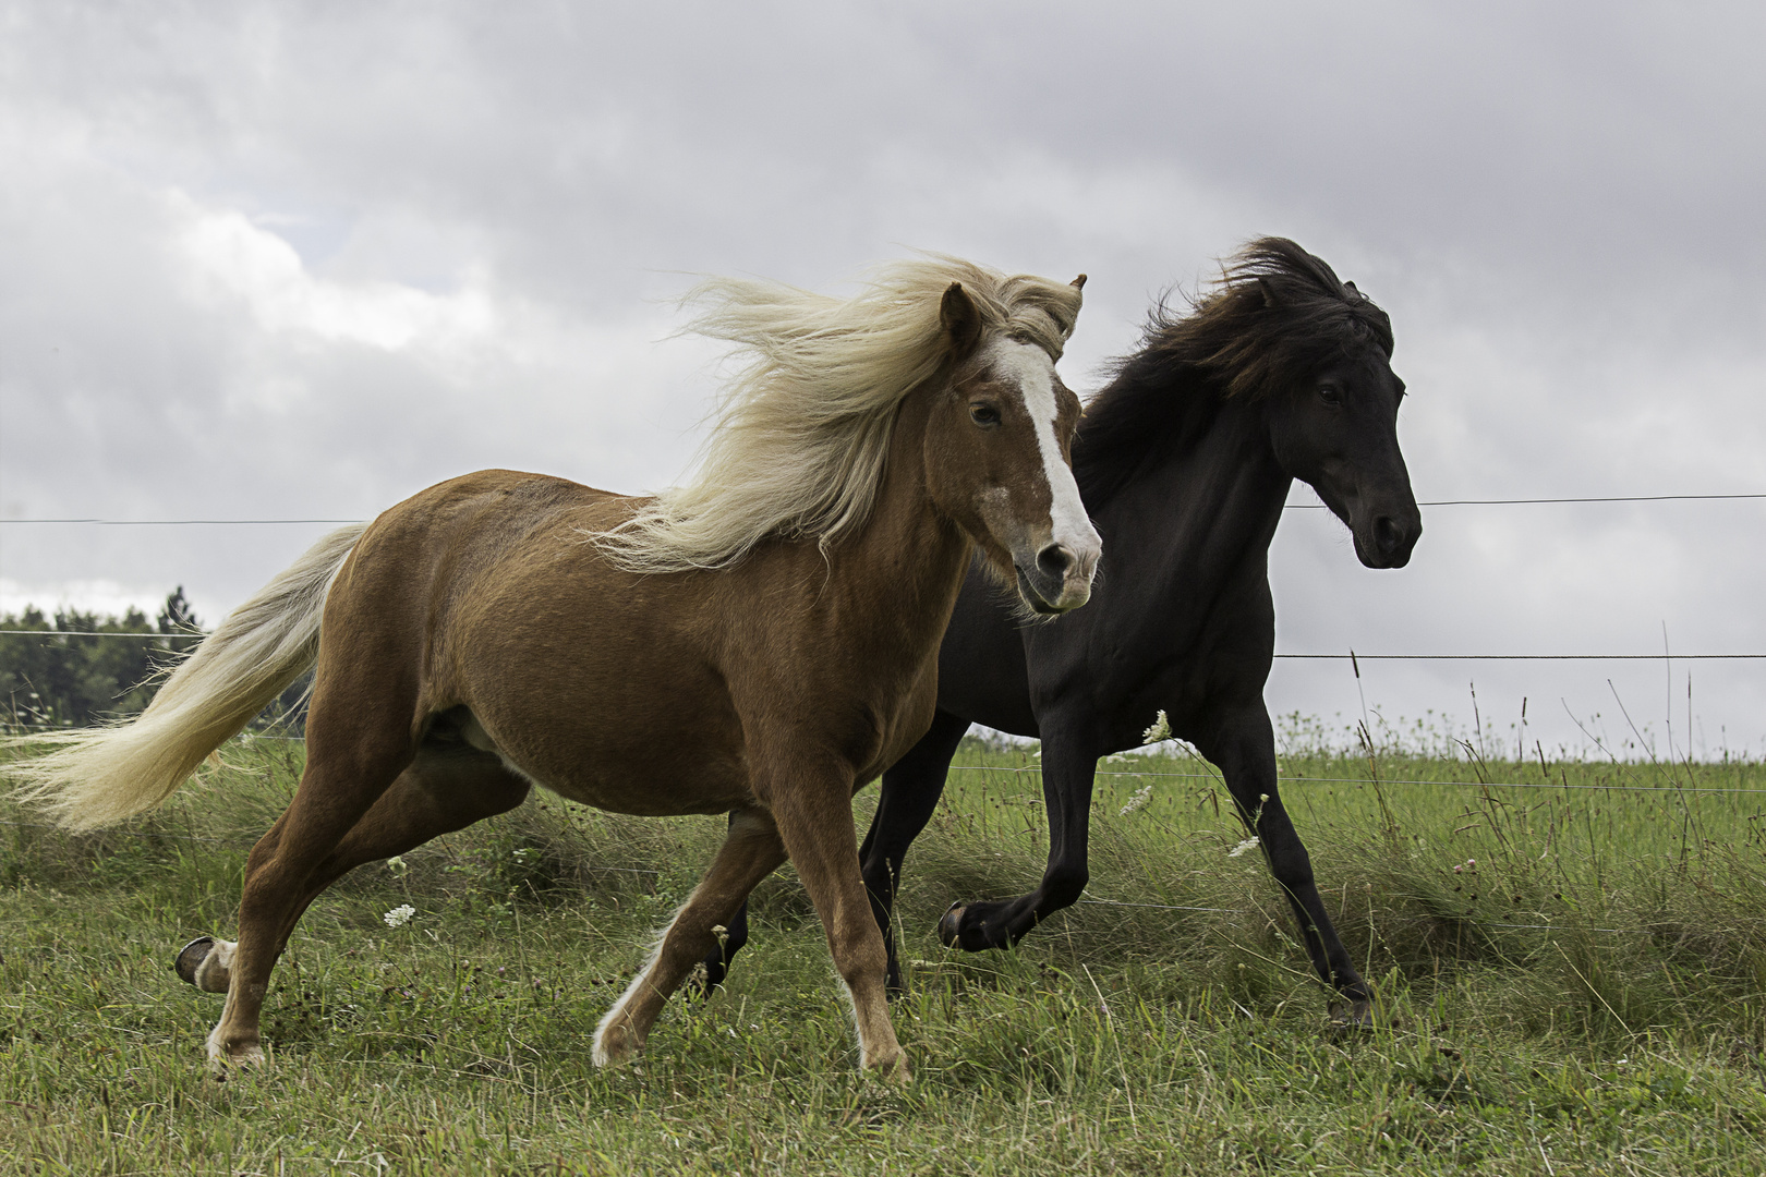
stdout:
<svg viewBox="0 0 1766 1177">
<path fill-rule="evenodd" d="M 1035 891 L 954 905 L 940 919 L 947 946 L 975 951 L 1015 944 L 1079 898 L 1098 757 L 1141 745 L 1164 709 L 1171 732 L 1220 768 L 1342 1013 L 1370 1018 L 1372 992 L 1275 787 L 1263 686 L 1275 653 L 1270 540 L 1294 478 L 1349 526 L 1369 568 L 1402 568 L 1422 533 L 1397 438 L 1404 381 L 1390 358 L 1386 314 L 1284 238 L 1240 251 L 1189 314 L 1153 311 L 1074 443 L 1079 491 L 1104 536 L 1091 603 L 1026 625 L 971 570 L 940 649 L 932 727 L 883 775 L 860 859 L 892 988 L 902 858 L 970 723 L 1042 739 L 1049 812 L 1049 866 Z M 745 939 L 743 909 L 706 960 L 710 985 Z"/>
</svg>

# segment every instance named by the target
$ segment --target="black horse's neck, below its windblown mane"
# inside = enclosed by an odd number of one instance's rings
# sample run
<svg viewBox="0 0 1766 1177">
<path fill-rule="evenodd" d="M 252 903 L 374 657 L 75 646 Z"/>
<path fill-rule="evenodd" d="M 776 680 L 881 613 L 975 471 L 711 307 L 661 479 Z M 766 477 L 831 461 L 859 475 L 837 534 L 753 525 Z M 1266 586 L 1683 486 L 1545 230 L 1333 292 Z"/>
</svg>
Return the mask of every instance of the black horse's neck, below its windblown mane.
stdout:
<svg viewBox="0 0 1766 1177">
<path fill-rule="evenodd" d="M 1121 575 L 1153 577 L 1160 595 L 1181 589 L 1201 603 L 1266 568 L 1293 478 L 1257 404 L 1194 386 L 1173 408 L 1174 427 L 1095 522 Z"/>
</svg>

